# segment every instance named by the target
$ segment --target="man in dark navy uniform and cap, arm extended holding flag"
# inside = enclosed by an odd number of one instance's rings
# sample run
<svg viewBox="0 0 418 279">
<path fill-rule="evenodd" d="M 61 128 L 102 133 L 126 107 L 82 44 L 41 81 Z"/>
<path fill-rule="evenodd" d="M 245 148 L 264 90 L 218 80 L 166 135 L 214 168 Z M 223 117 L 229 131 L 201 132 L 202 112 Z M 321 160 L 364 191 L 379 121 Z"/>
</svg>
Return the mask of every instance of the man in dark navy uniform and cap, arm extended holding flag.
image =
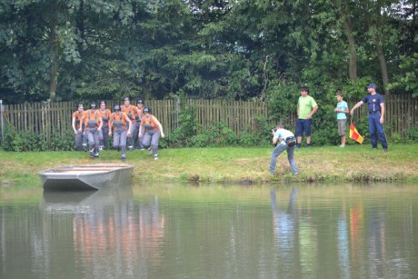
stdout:
<svg viewBox="0 0 418 279">
<path fill-rule="evenodd" d="M 363 104 L 369 105 L 369 132 L 370 141 L 372 142 L 372 148 L 377 149 L 377 135 L 379 135 L 380 143 L 382 144 L 383 151 L 387 152 L 387 141 L 384 135 L 383 123 L 384 123 L 384 98 L 376 92 L 377 85 L 370 84 L 367 86 L 367 92 L 370 95 L 366 95 L 362 101 L 355 104 L 350 112 L 353 116 L 354 110 Z"/>
</svg>

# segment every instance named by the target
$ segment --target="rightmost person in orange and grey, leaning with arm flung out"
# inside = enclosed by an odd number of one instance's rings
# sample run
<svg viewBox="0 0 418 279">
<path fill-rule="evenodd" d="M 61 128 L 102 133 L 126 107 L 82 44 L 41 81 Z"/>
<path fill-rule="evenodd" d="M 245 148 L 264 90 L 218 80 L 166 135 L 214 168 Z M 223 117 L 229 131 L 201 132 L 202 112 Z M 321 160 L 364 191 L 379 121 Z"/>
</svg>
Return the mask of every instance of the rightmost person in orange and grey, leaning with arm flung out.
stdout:
<svg viewBox="0 0 418 279">
<path fill-rule="evenodd" d="M 160 136 L 164 138 L 163 125 L 156 119 L 154 115 L 151 115 L 151 108 L 144 108 L 144 116 L 141 119 L 141 126 L 139 127 L 139 137 L 143 137 L 144 147 L 149 146 L 148 154 L 154 154 L 154 160 L 158 160 L 158 141 Z"/>
</svg>

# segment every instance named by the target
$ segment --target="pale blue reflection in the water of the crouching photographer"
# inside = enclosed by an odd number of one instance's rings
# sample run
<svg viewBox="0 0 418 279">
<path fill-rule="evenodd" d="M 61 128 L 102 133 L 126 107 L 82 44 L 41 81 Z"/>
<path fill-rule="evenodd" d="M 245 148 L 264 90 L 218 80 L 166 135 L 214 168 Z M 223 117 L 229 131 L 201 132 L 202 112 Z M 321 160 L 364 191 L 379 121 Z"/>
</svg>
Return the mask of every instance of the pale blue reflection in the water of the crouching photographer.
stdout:
<svg viewBox="0 0 418 279">
<path fill-rule="evenodd" d="M 281 210 L 276 202 L 275 190 L 270 191 L 270 198 L 273 210 L 273 224 L 274 224 L 274 240 L 275 246 L 281 249 L 280 254 L 286 255 L 284 261 L 289 263 L 292 260 L 292 254 L 294 253 L 295 243 L 295 220 L 294 211 L 297 197 L 297 188 L 293 188 L 289 198 L 289 205 L 287 211 Z"/>
</svg>

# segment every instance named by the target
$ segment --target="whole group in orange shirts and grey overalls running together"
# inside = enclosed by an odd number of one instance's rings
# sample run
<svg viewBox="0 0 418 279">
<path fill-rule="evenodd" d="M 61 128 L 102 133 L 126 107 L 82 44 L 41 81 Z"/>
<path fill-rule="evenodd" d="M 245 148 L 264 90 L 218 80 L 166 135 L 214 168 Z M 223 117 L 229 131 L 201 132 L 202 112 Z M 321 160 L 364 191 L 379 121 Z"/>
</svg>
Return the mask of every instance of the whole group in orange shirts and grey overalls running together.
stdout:
<svg viewBox="0 0 418 279">
<path fill-rule="evenodd" d="M 114 105 L 113 113 L 105 101 L 100 101 L 98 108 L 93 102 L 88 110 L 78 104 L 72 125 L 75 149 L 88 151 L 92 158 L 99 156 L 113 135 L 112 146 L 120 150 L 122 161 L 126 161 L 126 150 L 145 148 L 158 160 L 158 142 L 164 138 L 163 125 L 152 115 L 151 108 L 144 107 L 142 99 L 136 101 L 136 106 L 131 105 L 129 97 L 124 97 L 124 105 Z"/>
</svg>

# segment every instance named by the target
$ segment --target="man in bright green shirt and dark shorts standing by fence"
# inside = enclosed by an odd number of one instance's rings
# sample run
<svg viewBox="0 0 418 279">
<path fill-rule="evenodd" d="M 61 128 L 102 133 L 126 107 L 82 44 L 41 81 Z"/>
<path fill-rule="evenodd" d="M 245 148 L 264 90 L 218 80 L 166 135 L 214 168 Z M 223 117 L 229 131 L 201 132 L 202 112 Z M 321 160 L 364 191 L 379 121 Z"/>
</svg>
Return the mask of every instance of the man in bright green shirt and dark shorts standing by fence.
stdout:
<svg viewBox="0 0 418 279">
<path fill-rule="evenodd" d="M 318 110 L 313 97 L 309 95 L 309 88 L 301 88 L 301 96 L 297 101 L 296 138 L 297 147 L 301 147 L 302 136 L 306 135 L 306 147 L 311 146 L 312 116 Z"/>
</svg>

